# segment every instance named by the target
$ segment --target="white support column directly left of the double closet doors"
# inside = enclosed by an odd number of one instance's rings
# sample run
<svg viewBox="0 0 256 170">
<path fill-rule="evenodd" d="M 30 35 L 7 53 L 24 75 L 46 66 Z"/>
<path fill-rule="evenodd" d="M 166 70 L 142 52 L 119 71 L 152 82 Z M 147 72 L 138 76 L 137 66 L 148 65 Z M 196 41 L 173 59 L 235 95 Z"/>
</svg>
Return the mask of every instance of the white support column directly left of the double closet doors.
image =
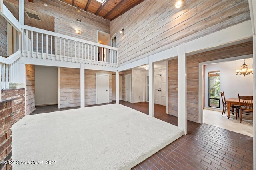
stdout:
<svg viewBox="0 0 256 170">
<path fill-rule="evenodd" d="M 152 55 L 148 57 L 148 115 L 154 117 L 154 63 Z"/>
</svg>

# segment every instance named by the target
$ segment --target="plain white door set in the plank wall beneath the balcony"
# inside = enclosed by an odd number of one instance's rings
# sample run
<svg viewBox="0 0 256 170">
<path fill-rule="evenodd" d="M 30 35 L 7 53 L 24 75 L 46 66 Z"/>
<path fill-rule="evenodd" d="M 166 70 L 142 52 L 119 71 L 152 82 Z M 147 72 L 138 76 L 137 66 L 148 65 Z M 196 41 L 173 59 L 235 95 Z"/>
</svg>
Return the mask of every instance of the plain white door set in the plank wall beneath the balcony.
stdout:
<svg viewBox="0 0 256 170">
<path fill-rule="evenodd" d="M 108 103 L 108 74 L 96 74 L 97 104 Z"/>
</svg>

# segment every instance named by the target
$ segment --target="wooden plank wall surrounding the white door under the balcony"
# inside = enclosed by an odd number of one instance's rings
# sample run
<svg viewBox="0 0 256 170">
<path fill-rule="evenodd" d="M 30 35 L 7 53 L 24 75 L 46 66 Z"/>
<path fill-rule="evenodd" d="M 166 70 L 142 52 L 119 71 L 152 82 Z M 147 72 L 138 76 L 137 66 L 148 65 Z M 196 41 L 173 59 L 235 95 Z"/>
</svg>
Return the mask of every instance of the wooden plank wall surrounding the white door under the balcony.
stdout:
<svg viewBox="0 0 256 170">
<path fill-rule="evenodd" d="M 109 74 L 109 102 L 112 102 L 112 74 L 115 72 L 84 70 L 85 105 L 96 104 L 96 73 Z"/>
</svg>

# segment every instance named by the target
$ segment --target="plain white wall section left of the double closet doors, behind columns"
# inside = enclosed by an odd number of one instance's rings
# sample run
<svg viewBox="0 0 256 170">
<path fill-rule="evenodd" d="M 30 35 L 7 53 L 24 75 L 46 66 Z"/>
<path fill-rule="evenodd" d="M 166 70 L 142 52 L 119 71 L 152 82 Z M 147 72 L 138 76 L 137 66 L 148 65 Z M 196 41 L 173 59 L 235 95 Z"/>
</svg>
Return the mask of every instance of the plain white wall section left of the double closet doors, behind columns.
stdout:
<svg viewBox="0 0 256 170">
<path fill-rule="evenodd" d="M 146 76 L 147 70 L 132 69 L 132 103 L 146 101 Z M 140 97 L 140 98 L 139 98 Z"/>
</svg>

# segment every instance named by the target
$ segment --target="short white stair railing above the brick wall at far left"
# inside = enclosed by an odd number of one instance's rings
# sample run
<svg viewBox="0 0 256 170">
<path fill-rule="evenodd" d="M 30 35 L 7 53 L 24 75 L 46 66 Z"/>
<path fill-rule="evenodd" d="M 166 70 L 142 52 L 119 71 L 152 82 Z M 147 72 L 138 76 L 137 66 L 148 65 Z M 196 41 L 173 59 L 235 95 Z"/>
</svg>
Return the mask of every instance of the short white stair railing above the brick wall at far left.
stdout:
<svg viewBox="0 0 256 170">
<path fill-rule="evenodd" d="M 17 51 L 10 57 L 0 56 L 0 88 L 9 89 L 9 83 L 16 83 L 18 78 L 18 59 L 21 53 Z"/>
</svg>

